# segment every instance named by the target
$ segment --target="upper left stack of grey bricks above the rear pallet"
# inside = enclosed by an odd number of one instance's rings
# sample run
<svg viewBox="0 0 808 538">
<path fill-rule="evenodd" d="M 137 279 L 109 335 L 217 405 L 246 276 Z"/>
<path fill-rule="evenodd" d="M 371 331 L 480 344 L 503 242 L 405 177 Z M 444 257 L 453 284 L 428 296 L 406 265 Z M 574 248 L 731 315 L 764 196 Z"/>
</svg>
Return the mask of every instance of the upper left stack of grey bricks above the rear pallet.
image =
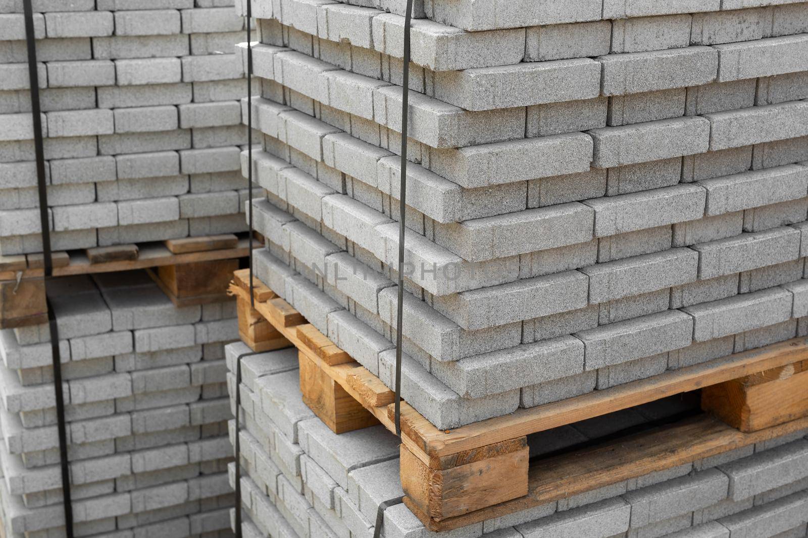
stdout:
<svg viewBox="0 0 808 538">
<path fill-rule="evenodd" d="M 34 0 L 48 216 L 66 250 L 246 230 L 232 0 Z M 22 0 L 0 2 L 0 254 L 41 252 Z"/>
</svg>

